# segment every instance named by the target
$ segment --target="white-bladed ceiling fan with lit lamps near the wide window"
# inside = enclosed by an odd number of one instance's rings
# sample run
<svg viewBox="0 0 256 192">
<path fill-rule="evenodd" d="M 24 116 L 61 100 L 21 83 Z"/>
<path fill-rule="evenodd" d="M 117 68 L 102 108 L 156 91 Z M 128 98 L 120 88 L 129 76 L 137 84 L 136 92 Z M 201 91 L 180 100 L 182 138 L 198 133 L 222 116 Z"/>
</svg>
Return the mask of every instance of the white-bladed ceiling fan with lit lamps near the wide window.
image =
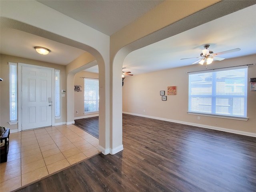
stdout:
<svg viewBox="0 0 256 192">
<path fill-rule="evenodd" d="M 196 64 L 199 63 L 201 65 L 204 64 L 204 66 L 211 64 L 213 60 L 218 60 L 218 61 L 222 61 L 225 58 L 223 57 L 216 57 L 222 54 L 227 54 L 227 53 L 232 53 L 232 52 L 236 52 L 236 51 L 240 51 L 240 48 L 236 48 L 236 49 L 231 49 L 228 51 L 223 51 L 223 52 L 219 52 L 219 53 L 213 53 L 213 51 L 210 51 L 208 48 L 210 47 L 210 45 L 205 45 L 204 49 L 202 50 L 202 53 L 200 54 L 200 57 L 191 57 L 191 58 L 183 58 L 183 59 L 192 59 L 192 58 L 200 58 L 199 60 L 197 60 L 196 62 L 192 63 L 192 64 Z"/>
</svg>

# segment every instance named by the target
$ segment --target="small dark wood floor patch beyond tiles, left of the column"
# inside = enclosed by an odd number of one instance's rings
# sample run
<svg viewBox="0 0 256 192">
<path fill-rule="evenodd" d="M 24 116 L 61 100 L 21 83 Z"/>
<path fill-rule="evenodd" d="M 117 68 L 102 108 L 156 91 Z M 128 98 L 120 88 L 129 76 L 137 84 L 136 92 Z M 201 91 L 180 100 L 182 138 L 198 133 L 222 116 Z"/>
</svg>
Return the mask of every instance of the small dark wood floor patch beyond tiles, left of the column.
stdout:
<svg viewBox="0 0 256 192">
<path fill-rule="evenodd" d="M 99 117 L 77 119 L 75 125 L 99 138 Z"/>
</svg>

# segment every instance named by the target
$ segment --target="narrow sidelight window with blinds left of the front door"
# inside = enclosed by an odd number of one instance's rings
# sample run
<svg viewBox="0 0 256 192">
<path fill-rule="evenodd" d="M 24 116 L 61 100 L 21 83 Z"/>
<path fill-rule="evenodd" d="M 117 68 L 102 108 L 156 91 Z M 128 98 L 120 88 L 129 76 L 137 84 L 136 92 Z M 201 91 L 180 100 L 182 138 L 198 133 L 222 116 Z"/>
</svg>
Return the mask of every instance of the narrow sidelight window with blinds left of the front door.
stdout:
<svg viewBox="0 0 256 192">
<path fill-rule="evenodd" d="M 17 102 L 17 64 L 9 62 L 10 76 L 10 122 L 18 120 Z"/>
</svg>

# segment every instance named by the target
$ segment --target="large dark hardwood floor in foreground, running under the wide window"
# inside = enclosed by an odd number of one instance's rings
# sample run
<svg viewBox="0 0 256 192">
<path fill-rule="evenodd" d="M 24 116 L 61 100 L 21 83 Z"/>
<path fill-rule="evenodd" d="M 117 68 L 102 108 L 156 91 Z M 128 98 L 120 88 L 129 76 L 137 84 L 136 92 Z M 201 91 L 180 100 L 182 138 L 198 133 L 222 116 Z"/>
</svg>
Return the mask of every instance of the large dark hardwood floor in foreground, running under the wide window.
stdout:
<svg viewBox="0 0 256 192">
<path fill-rule="evenodd" d="M 256 138 L 123 114 L 124 150 L 20 192 L 256 192 Z"/>
</svg>

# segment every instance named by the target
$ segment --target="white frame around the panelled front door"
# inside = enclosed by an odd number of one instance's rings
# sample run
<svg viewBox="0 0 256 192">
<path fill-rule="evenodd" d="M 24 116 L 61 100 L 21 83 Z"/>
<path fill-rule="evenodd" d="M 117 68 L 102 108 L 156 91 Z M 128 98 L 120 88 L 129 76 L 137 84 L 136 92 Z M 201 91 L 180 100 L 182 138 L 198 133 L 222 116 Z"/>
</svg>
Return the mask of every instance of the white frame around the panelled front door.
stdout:
<svg viewBox="0 0 256 192">
<path fill-rule="evenodd" d="M 22 131 L 22 118 L 21 118 L 21 85 L 22 85 L 22 66 L 48 69 L 52 71 L 52 126 L 54 126 L 54 111 L 55 111 L 55 97 L 54 97 L 54 68 L 30 65 L 25 63 L 18 63 L 18 131 Z"/>
</svg>

